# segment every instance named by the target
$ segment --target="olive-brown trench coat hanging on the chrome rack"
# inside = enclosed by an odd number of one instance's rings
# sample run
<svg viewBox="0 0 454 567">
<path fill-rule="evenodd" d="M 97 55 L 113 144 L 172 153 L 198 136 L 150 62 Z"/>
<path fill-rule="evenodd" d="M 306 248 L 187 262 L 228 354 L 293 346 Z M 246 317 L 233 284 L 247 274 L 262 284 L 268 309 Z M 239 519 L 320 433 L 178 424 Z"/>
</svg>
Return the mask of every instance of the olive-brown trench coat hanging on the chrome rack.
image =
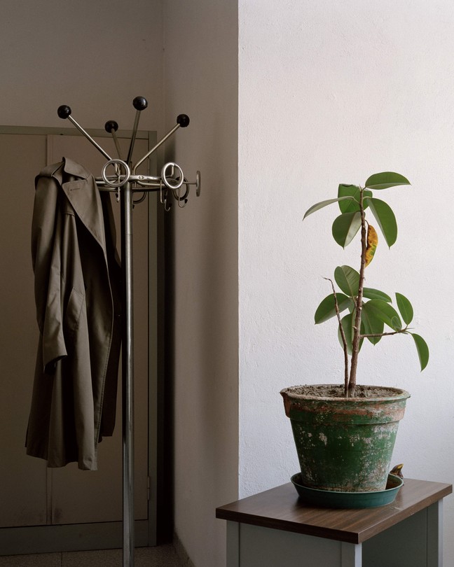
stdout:
<svg viewBox="0 0 454 567">
<path fill-rule="evenodd" d="M 36 177 L 32 219 L 39 345 L 27 454 L 97 469 L 112 435 L 121 346 L 121 268 L 110 194 L 64 161 Z"/>
</svg>

